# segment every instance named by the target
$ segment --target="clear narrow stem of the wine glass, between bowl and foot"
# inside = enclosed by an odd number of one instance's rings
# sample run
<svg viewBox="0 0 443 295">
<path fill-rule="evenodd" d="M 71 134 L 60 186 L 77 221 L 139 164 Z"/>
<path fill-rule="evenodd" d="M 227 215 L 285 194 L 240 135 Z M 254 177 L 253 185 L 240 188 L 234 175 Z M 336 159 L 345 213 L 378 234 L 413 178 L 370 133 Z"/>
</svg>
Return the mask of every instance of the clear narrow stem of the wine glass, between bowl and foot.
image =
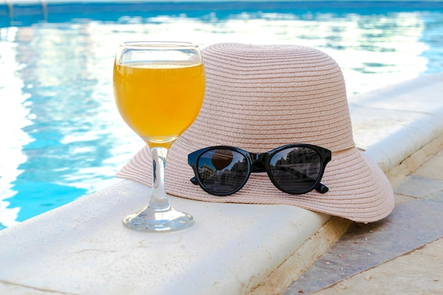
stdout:
<svg viewBox="0 0 443 295">
<path fill-rule="evenodd" d="M 161 146 L 153 147 L 151 148 L 151 156 L 153 182 L 149 208 L 154 210 L 168 210 L 170 206 L 166 197 L 165 188 L 166 156 L 168 156 L 168 149 Z"/>
</svg>

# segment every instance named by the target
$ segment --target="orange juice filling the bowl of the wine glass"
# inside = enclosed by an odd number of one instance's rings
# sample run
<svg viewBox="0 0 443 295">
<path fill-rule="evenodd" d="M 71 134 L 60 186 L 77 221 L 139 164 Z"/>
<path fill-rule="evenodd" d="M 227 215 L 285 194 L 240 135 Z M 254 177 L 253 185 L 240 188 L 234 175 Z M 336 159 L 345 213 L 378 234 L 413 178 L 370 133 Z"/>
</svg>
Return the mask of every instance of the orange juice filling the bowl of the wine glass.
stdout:
<svg viewBox="0 0 443 295">
<path fill-rule="evenodd" d="M 169 146 L 194 122 L 205 96 L 203 65 L 115 64 L 123 119 L 149 146 Z"/>
</svg>

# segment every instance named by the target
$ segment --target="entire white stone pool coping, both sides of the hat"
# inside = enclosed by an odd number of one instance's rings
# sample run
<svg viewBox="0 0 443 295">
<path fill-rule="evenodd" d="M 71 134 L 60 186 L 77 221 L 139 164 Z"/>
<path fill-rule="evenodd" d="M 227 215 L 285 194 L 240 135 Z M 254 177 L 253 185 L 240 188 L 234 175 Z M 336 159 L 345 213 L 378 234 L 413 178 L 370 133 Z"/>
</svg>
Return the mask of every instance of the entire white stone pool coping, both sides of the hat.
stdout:
<svg viewBox="0 0 443 295">
<path fill-rule="evenodd" d="M 443 73 L 349 101 L 357 146 L 392 183 L 443 144 Z M 148 193 L 124 180 L 0 231 L 0 294 L 278 294 L 350 225 L 297 207 L 171 197 L 195 226 L 127 229 L 122 216 Z"/>
</svg>

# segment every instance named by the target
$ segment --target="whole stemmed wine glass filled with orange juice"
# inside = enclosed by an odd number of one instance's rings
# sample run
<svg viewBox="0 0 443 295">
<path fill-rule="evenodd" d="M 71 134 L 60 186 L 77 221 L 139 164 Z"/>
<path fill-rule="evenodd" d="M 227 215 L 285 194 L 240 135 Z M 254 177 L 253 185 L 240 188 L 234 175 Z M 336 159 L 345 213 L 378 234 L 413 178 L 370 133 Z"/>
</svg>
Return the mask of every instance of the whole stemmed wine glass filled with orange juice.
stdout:
<svg viewBox="0 0 443 295">
<path fill-rule="evenodd" d="M 132 229 L 175 231 L 192 226 L 190 214 L 166 197 L 166 156 L 194 122 L 205 96 L 205 69 L 198 45 L 188 42 L 122 42 L 115 55 L 114 95 L 123 120 L 149 146 L 153 183 L 149 204 L 125 216 Z"/>
</svg>

